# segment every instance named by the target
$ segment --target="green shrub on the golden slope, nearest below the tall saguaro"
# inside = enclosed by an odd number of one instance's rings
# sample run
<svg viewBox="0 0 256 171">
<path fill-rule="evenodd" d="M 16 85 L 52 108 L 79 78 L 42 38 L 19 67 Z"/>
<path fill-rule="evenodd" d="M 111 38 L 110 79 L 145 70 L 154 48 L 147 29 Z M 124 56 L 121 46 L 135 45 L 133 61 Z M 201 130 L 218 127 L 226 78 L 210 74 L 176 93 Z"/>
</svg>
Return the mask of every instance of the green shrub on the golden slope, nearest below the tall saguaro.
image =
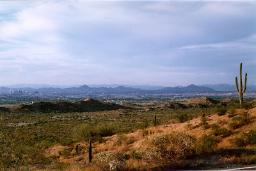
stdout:
<svg viewBox="0 0 256 171">
<path fill-rule="evenodd" d="M 237 117 L 232 118 L 232 122 L 228 124 L 229 128 L 232 130 L 236 130 L 241 126 L 250 123 L 250 115 L 247 112 L 242 112 Z"/>
</svg>

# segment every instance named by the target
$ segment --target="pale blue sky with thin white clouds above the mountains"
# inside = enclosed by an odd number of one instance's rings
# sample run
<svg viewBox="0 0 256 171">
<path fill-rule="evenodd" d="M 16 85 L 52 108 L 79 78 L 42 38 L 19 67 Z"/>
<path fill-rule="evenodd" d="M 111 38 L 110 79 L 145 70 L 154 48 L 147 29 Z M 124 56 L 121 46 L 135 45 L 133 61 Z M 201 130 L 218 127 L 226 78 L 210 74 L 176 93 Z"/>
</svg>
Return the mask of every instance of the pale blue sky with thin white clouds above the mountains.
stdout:
<svg viewBox="0 0 256 171">
<path fill-rule="evenodd" d="M 0 85 L 256 84 L 256 1 L 0 1 Z"/>
</svg>

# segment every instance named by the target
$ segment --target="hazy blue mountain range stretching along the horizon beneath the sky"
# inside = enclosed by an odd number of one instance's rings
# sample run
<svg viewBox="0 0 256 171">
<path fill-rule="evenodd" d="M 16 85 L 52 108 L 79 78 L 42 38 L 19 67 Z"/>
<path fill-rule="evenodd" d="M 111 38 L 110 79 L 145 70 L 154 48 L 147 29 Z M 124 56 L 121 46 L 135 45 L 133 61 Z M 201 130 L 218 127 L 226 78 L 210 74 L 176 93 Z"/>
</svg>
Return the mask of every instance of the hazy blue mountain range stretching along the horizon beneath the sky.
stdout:
<svg viewBox="0 0 256 171">
<path fill-rule="evenodd" d="M 150 85 L 131 85 L 126 87 L 118 85 L 117 87 L 89 87 L 88 85 L 76 85 L 76 87 L 49 87 L 47 84 L 16 84 L 18 87 L 0 87 L 0 93 L 65 93 L 65 94 L 81 94 L 81 93 L 218 93 L 218 92 L 235 92 L 235 85 L 228 84 L 207 84 L 207 85 L 188 85 L 186 87 L 161 87 Z M 31 87 L 20 87 L 21 85 Z M 33 86 L 32 86 L 33 85 Z M 45 87 L 42 87 L 45 86 Z M 65 85 L 67 86 L 67 85 Z M 129 86 L 129 85 L 127 85 Z M 39 88 L 35 88 L 39 87 Z M 140 87 L 140 88 L 139 88 Z M 256 92 L 256 85 L 247 85 L 246 92 Z"/>
</svg>

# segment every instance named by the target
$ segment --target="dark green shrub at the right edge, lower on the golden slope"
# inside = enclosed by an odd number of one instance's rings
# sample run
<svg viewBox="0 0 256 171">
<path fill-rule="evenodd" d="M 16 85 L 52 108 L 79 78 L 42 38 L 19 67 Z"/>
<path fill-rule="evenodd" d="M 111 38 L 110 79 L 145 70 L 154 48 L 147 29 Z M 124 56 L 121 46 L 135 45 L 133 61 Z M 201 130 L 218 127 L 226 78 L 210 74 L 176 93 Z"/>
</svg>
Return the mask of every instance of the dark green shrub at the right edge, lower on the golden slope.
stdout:
<svg viewBox="0 0 256 171">
<path fill-rule="evenodd" d="M 232 139 L 231 143 L 237 147 L 256 144 L 256 130 L 250 130 L 248 133 L 243 133 L 240 138 L 236 137 Z"/>
</svg>

